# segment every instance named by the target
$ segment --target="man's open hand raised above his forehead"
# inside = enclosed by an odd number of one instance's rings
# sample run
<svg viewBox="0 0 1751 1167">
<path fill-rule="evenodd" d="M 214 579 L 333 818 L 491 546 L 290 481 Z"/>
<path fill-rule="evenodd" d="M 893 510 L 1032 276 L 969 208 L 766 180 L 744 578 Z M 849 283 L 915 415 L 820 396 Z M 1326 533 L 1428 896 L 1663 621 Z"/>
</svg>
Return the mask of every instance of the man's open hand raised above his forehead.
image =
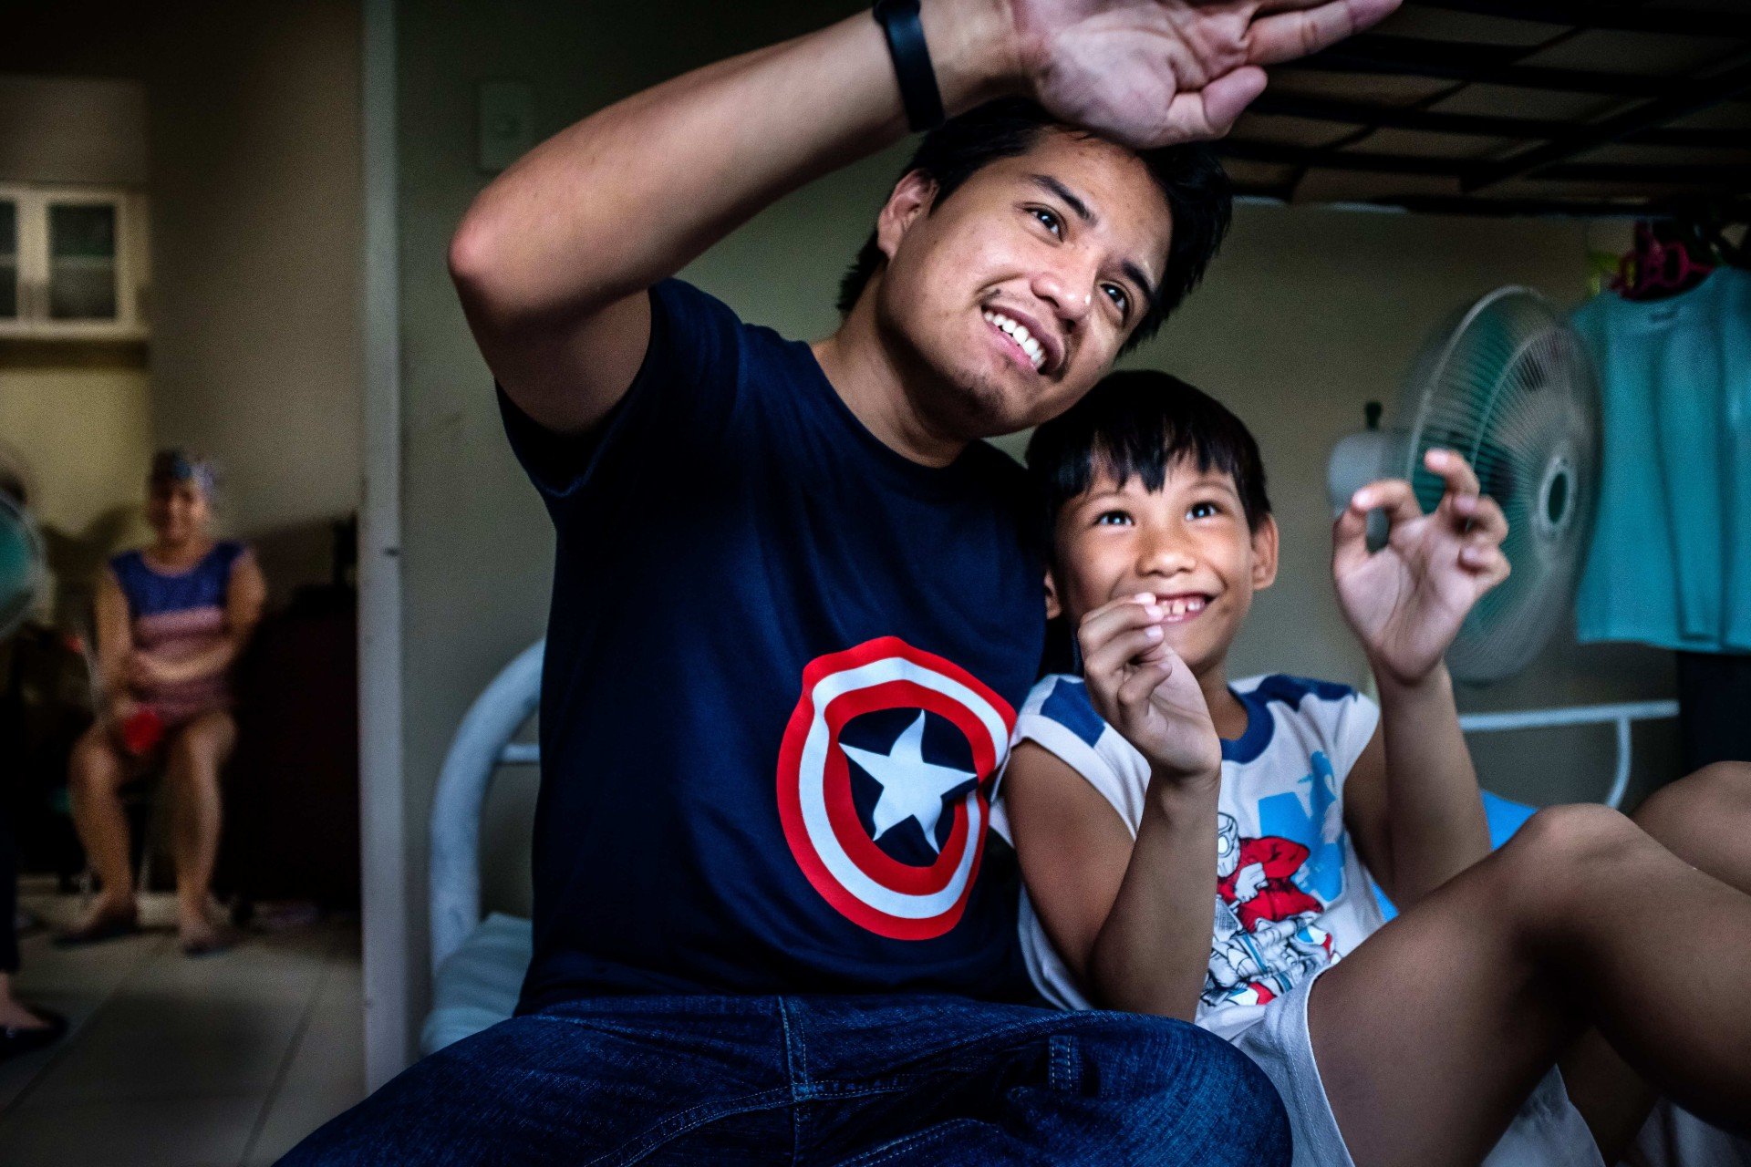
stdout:
<svg viewBox="0 0 1751 1167">
<path fill-rule="evenodd" d="M 1317 52 L 1399 0 L 1009 0 L 1017 68 L 1056 117 L 1135 149 L 1220 138 L 1264 65 Z"/>
</svg>

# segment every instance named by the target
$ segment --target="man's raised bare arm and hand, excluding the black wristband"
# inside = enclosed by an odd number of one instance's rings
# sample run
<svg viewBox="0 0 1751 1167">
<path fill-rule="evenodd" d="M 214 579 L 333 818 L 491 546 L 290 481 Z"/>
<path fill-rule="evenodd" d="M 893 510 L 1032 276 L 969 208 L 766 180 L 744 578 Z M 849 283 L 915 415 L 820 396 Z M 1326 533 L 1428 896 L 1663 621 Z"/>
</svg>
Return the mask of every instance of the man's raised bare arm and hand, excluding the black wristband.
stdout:
<svg viewBox="0 0 1751 1167">
<path fill-rule="evenodd" d="M 925 0 L 949 115 L 1026 94 L 1147 147 L 1220 136 L 1261 65 L 1340 40 L 1399 0 Z M 611 105 L 494 180 L 450 243 L 504 392 L 583 432 L 637 373 L 646 289 L 758 210 L 905 133 L 881 26 L 860 12 Z"/>
</svg>

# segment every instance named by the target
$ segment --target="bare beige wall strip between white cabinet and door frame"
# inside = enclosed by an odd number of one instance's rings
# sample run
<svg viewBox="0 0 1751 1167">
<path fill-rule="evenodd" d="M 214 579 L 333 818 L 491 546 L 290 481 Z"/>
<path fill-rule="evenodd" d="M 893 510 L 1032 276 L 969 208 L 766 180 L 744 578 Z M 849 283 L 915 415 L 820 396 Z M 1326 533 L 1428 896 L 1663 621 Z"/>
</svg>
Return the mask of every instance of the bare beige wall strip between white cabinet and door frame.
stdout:
<svg viewBox="0 0 1751 1167">
<path fill-rule="evenodd" d="M 278 595 L 359 506 L 359 10 L 184 5 L 152 65 L 152 420 Z M 170 30 L 166 30 L 170 33 Z"/>
</svg>

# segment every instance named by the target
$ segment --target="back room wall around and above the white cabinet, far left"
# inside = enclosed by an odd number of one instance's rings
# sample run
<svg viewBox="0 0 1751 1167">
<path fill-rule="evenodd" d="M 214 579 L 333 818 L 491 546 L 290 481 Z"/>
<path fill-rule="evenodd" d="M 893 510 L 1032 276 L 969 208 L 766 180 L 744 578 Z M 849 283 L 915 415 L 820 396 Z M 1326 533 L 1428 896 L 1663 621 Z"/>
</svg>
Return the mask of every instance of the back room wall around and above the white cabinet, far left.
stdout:
<svg viewBox="0 0 1751 1167">
<path fill-rule="evenodd" d="M 0 163 L 151 198 L 145 443 L 219 462 L 221 523 L 278 597 L 326 579 L 327 523 L 361 490 L 357 0 L 35 5 L 0 73 Z M 61 444 L 96 401 L 63 401 Z"/>
</svg>

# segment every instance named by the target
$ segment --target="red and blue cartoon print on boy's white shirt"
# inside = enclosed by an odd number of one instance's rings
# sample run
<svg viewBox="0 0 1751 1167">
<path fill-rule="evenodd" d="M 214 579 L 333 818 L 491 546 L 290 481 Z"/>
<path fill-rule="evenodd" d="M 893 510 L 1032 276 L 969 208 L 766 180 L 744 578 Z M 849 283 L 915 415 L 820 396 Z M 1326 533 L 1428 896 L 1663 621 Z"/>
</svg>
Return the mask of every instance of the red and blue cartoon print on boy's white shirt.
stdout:
<svg viewBox="0 0 1751 1167">
<path fill-rule="evenodd" d="M 1217 903 L 1203 1001 L 1266 1004 L 1343 954 L 1319 917 L 1343 894 L 1343 815 L 1326 754 L 1315 751 L 1308 807 L 1296 794 L 1259 801 L 1259 822 L 1285 835 L 1243 838 L 1217 815 Z M 1304 840 L 1304 842 L 1303 842 Z"/>
</svg>

